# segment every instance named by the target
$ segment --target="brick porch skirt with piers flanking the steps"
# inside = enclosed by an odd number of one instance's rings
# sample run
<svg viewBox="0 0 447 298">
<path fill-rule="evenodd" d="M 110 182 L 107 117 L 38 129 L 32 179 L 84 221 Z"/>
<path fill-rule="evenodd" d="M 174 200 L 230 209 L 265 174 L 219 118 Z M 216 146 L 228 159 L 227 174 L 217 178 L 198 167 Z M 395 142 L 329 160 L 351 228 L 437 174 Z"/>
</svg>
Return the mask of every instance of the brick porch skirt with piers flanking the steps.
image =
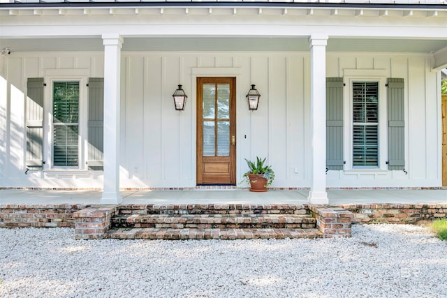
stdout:
<svg viewBox="0 0 447 298">
<path fill-rule="evenodd" d="M 101 239 L 118 214 L 309 214 L 316 218 L 317 237 L 350 237 L 351 223 L 417 223 L 447 217 L 447 204 L 131 204 L 91 206 L 88 204 L 0 204 L 0 228 L 75 228 L 77 239 Z M 208 219 L 209 220 L 209 219 Z M 263 238 L 265 231 L 248 233 Z M 273 233 L 273 232 L 272 232 Z M 271 234 L 272 234 L 271 233 Z M 300 233 L 299 231 L 297 233 Z M 306 234 L 303 232 L 302 234 Z M 207 238 L 200 235 L 194 239 Z M 259 236 L 259 237 L 258 237 Z M 261 237 L 262 236 L 262 237 Z M 294 234 L 281 234 L 293 237 Z M 309 234 L 307 235 L 309 236 Z M 181 239 L 165 237 L 162 239 Z M 310 237 L 310 236 L 309 236 Z M 125 238 L 125 237 L 122 237 Z M 209 237 L 212 238 L 212 237 Z M 189 239 L 189 238 L 183 238 Z M 224 236 L 221 239 L 235 239 Z"/>
</svg>

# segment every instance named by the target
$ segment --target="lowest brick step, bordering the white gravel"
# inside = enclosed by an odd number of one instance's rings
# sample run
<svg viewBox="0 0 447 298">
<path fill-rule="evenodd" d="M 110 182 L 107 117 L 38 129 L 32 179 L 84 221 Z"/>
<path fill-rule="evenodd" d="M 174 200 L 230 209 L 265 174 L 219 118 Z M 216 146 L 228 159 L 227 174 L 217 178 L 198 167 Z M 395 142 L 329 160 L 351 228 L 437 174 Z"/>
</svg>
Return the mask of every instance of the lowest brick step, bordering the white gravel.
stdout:
<svg viewBox="0 0 447 298">
<path fill-rule="evenodd" d="M 168 229 L 115 228 L 105 232 L 105 239 L 295 239 L 321 238 L 317 229 Z"/>
</svg>

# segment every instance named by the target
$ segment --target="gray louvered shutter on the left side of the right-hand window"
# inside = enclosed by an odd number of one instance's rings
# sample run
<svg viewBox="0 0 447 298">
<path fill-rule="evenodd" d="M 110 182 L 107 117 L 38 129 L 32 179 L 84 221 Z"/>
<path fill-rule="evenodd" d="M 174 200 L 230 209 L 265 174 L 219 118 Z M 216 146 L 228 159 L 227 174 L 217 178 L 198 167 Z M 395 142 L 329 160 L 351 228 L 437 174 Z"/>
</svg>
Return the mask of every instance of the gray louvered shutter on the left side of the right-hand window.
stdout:
<svg viewBox="0 0 447 298">
<path fill-rule="evenodd" d="M 326 78 L 326 167 L 343 170 L 343 77 Z"/>
</svg>

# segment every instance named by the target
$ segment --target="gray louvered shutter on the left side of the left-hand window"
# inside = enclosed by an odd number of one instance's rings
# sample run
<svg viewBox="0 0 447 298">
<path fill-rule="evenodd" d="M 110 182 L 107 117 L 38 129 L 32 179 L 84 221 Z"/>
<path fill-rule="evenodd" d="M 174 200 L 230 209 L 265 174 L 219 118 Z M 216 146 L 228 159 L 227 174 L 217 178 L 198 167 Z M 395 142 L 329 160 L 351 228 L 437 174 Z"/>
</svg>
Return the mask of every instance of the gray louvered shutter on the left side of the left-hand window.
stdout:
<svg viewBox="0 0 447 298">
<path fill-rule="evenodd" d="M 27 84 L 27 157 L 30 170 L 43 166 L 43 77 L 28 79 Z"/>
</svg>

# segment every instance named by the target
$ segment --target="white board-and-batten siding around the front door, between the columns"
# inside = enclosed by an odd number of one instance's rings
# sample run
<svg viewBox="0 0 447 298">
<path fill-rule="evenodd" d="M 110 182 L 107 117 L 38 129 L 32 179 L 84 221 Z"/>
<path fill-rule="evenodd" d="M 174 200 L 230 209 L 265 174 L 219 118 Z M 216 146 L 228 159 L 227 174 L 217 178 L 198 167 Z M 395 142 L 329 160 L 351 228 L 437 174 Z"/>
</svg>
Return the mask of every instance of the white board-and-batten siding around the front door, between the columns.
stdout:
<svg viewBox="0 0 447 298">
<path fill-rule="evenodd" d="M 240 68 L 240 74 L 221 75 L 237 76 L 237 181 L 247 167 L 244 158 L 265 156 L 275 167 L 277 184 L 305 187 L 309 88 L 303 74 L 308 59 L 295 54 L 124 54 L 121 156 L 129 178 L 154 187 L 195 186 L 196 81 L 191 69 Z M 183 112 L 173 105 L 177 84 L 189 96 Z M 261 93 L 254 112 L 245 98 L 251 84 Z"/>
</svg>

